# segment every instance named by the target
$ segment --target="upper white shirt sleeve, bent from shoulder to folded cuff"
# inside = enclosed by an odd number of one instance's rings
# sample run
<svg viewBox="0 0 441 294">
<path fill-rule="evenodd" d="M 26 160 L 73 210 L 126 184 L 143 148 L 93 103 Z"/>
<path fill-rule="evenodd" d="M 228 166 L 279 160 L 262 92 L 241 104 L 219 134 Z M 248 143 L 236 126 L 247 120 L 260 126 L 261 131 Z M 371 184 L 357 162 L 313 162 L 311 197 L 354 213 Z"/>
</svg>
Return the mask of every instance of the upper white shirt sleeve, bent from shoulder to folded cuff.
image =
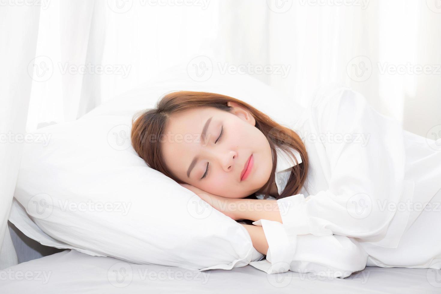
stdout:
<svg viewBox="0 0 441 294">
<path fill-rule="evenodd" d="M 311 134 L 324 138 L 311 144 L 328 177 L 329 189 L 306 199 L 296 194 L 277 200 L 289 237 L 337 234 L 380 240 L 396 213 L 388 205 L 401 201 L 404 190 L 400 123 L 376 112 L 365 97 L 348 88 L 317 97 L 309 109 Z M 404 229 L 405 213 L 400 222 Z M 389 246 L 396 245 L 402 231 L 393 234 L 396 238 Z"/>
</svg>

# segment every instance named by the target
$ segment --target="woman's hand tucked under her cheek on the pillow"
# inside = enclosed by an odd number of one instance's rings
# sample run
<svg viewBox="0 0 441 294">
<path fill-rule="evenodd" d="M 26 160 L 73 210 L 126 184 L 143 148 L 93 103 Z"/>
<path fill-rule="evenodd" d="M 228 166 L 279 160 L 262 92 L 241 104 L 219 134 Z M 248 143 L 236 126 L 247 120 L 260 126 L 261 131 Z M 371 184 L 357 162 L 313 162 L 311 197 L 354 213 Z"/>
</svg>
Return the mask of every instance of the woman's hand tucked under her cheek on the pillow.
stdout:
<svg viewBox="0 0 441 294">
<path fill-rule="evenodd" d="M 194 194 L 198 195 L 203 201 L 207 202 L 213 208 L 222 212 L 224 215 L 232 218 L 233 220 L 240 220 L 241 218 L 237 216 L 236 209 L 236 199 L 227 198 L 218 195 L 208 193 L 190 184 L 179 184 L 188 190 L 192 191 Z"/>
</svg>

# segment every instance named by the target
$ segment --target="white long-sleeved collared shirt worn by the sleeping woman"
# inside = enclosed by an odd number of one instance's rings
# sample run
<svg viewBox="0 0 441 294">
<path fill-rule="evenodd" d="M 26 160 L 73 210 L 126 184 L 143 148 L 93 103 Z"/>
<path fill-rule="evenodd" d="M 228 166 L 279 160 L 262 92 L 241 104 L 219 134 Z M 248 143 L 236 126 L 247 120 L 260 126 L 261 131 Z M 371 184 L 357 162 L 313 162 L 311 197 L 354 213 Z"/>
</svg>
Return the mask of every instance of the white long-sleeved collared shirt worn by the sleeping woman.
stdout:
<svg viewBox="0 0 441 294">
<path fill-rule="evenodd" d="M 366 264 L 441 267 L 441 229 L 431 226 L 441 213 L 391 208 L 441 200 L 441 152 L 430 147 L 435 141 L 404 131 L 347 88 L 318 94 L 292 129 L 306 145 L 307 185 L 277 200 L 283 223 L 254 222 L 269 249 L 266 260 L 252 266 L 332 277 Z"/>
</svg>

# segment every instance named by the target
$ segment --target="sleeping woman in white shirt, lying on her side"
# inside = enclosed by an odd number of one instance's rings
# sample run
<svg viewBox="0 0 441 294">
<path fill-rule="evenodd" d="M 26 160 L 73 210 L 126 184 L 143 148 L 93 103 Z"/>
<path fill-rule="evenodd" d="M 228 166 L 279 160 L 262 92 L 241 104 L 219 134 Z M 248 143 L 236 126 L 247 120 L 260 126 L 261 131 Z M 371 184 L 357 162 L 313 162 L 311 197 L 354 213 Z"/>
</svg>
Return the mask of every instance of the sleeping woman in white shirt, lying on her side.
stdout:
<svg viewBox="0 0 441 294">
<path fill-rule="evenodd" d="M 430 135 L 348 88 L 316 95 L 291 127 L 233 97 L 177 91 L 134 117 L 131 141 L 248 231 L 266 256 L 254 267 L 346 277 L 441 268 L 441 139 Z"/>
</svg>

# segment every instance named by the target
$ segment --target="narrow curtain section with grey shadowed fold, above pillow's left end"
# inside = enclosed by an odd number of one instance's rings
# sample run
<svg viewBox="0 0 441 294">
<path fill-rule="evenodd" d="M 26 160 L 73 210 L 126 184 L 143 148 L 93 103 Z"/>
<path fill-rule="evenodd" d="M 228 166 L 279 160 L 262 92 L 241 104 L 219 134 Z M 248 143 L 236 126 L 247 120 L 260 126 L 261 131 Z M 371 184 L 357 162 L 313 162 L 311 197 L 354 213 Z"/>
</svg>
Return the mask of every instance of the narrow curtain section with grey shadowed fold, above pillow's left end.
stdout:
<svg viewBox="0 0 441 294">
<path fill-rule="evenodd" d="M 51 1 L 41 10 L 28 130 L 72 121 L 101 104 L 106 1 Z"/>
</svg>

